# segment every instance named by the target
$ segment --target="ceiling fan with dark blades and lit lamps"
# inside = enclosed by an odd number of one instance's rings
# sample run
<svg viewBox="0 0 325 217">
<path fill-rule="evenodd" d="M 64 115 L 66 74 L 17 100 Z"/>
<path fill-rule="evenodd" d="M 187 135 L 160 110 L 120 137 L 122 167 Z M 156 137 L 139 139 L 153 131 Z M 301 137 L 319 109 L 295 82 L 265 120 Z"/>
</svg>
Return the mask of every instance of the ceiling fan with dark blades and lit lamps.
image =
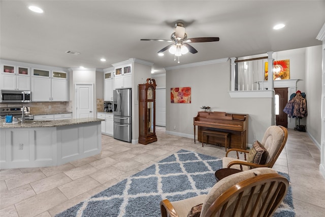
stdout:
<svg viewBox="0 0 325 217">
<path fill-rule="evenodd" d="M 175 54 L 178 56 L 178 63 L 179 63 L 179 56 L 185 54 L 187 52 L 190 53 L 197 53 L 198 51 L 189 45 L 188 43 L 196 43 L 196 42 L 217 42 L 219 41 L 219 37 L 201 37 L 201 38 L 187 38 L 187 34 L 185 33 L 185 27 L 182 22 L 175 23 L 175 33 L 171 35 L 171 40 L 166 39 L 141 39 L 141 41 L 159 41 L 159 42 L 172 42 L 163 49 L 158 51 L 158 54 L 163 53 L 166 50 L 169 50 L 170 53 Z"/>
</svg>

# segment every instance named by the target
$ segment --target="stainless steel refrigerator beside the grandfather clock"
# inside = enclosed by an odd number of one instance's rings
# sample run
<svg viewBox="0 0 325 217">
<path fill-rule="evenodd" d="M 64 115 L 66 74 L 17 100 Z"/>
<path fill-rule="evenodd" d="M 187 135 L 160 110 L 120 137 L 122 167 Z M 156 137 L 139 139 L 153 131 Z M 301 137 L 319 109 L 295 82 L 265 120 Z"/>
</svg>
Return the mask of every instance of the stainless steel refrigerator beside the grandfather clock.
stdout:
<svg viewBox="0 0 325 217">
<path fill-rule="evenodd" d="M 131 89 L 113 91 L 114 138 L 125 142 L 132 140 Z"/>
</svg>

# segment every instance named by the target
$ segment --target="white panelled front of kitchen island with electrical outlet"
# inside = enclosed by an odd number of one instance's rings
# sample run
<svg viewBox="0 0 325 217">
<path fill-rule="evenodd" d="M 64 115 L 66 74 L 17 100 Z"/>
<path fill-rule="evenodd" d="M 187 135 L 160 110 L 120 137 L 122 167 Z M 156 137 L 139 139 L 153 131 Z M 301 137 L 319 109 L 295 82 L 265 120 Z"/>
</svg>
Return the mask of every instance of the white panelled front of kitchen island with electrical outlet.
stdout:
<svg viewBox="0 0 325 217">
<path fill-rule="evenodd" d="M 56 136 L 53 128 L 2 129 L 0 136 L 2 168 L 56 165 Z"/>
</svg>

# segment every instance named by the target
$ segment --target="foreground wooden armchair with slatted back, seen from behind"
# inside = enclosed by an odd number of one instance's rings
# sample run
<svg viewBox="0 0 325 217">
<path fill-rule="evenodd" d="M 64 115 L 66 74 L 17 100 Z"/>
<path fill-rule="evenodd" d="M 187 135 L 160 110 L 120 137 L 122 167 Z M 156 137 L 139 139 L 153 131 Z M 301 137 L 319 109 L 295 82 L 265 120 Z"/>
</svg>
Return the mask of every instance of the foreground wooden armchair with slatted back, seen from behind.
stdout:
<svg viewBox="0 0 325 217">
<path fill-rule="evenodd" d="M 221 179 L 207 195 L 161 201 L 161 216 L 272 216 L 288 187 L 275 170 L 255 168 Z"/>
</svg>

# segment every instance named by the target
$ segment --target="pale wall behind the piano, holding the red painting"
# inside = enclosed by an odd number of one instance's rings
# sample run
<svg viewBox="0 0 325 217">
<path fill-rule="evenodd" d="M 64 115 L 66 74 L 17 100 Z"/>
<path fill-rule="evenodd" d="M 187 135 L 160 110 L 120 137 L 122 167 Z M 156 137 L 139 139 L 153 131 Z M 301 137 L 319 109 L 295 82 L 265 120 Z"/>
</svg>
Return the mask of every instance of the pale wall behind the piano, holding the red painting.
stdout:
<svg viewBox="0 0 325 217">
<path fill-rule="evenodd" d="M 170 101 L 170 88 L 191 87 L 191 103 L 178 104 Z M 193 138 L 193 117 L 202 106 L 211 111 L 248 114 L 248 143 L 254 134 L 262 140 L 271 125 L 271 99 L 230 98 L 230 61 L 220 64 L 174 69 L 166 71 L 166 131 Z M 174 130 L 175 126 L 175 130 Z"/>
</svg>

